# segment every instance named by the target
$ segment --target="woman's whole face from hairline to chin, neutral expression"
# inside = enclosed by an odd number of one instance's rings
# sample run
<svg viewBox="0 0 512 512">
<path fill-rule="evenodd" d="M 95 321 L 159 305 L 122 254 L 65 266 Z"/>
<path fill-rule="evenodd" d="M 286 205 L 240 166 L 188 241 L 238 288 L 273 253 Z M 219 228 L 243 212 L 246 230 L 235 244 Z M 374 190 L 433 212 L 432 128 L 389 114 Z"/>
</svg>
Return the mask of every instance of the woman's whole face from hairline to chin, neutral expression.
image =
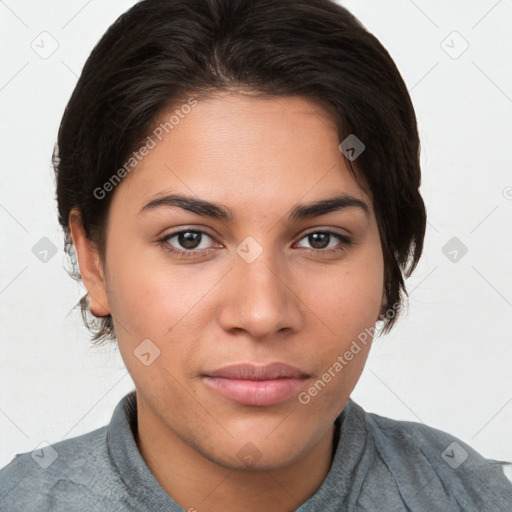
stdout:
<svg viewBox="0 0 512 512">
<path fill-rule="evenodd" d="M 224 467 L 249 442 L 255 468 L 298 460 L 363 370 L 371 338 L 344 354 L 378 319 L 383 256 L 339 143 L 305 99 L 223 94 L 114 191 L 105 293 L 139 407 Z"/>
</svg>

